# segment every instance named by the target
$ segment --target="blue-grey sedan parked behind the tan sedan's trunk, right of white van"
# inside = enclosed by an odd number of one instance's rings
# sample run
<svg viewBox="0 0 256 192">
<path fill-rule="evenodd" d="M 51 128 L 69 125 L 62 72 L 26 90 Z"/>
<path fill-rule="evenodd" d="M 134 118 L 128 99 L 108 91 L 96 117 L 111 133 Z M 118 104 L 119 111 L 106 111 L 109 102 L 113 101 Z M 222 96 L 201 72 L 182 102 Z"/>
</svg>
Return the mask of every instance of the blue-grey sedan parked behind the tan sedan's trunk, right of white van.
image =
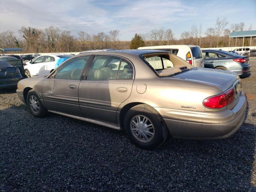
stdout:
<svg viewBox="0 0 256 192">
<path fill-rule="evenodd" d="M 245 75 L 250 73 L 248 57 L 220 50 L 202 50 L 204 56 L 204 67 L 220 70 L 228 70 Z"/>
</svg>

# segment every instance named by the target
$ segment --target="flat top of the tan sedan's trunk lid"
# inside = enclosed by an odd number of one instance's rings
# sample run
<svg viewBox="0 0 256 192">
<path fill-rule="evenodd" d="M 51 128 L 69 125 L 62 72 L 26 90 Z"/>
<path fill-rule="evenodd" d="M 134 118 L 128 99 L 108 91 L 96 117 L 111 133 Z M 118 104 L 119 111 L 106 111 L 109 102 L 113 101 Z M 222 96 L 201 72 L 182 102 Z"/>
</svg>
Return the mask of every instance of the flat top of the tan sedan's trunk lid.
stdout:
<svg viewBox="0 0 256 192">
<path fill-rule="evenodd" d="M 233 86 L 234 82 L 239 79 L 236 73 L 206 68 L 193 68 L 186 72 L 176 74 L 173 77 L 217 86 L 223 92 Z"/>
</svg>

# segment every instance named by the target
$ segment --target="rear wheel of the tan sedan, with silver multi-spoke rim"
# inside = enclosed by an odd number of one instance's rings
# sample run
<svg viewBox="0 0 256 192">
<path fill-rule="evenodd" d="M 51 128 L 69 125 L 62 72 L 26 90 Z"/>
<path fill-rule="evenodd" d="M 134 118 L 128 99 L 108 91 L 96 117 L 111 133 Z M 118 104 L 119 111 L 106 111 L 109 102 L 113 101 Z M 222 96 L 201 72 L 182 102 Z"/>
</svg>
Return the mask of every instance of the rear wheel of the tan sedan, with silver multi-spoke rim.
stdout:
<svg viewBox="0 0 256 192">
<path fill-rule="evenodd" d="M 168 136 L 168 130 L 161 116 L 146 104 L 134 106 L 127 112 L 124 129 L 136 146 L 146 150 L 158 148 Z"/>
</svg>

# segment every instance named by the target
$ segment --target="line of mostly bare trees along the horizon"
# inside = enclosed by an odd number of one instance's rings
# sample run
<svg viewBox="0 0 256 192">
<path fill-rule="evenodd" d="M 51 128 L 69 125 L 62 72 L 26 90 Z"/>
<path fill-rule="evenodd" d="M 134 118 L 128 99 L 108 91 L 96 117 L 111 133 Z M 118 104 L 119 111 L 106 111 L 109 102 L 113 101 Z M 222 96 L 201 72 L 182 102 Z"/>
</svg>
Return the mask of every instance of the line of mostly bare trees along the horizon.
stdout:
<svg viewBox="0 0 256 192">
<path fill-rule="evenodd" d="M 0 47 L 2 48 L 23 48 L 24 52 L 80 52 L 84 50 L 95 50 L 102 48 L 129 49 L 138 46 L 156 46 L 171 44 L 194 44 L 202 48 L 224 47 L 229 44 L 229 35 L 233 31 L 252 30 L 252 25 L 245 27 L 244 22 L 230 24 L 226 18 L 217 18 L 214 27 L 202 30 L 202 25 L 192 25 L 190 30 L 180 34 L 176 39 L 171 28 L 153 29 L 146 34 L 135 34 L 132 41 L 120 41 L 120 31 L 110 30 L 108 33 L 99 32 L 90 35 L 80 31 L 77 36 L 71 35 L 69 30 L 61 30 L 58 27 L 37 29 L 23 26 L 18 32 L 20 39 L 14 32 L 8 30 L 0 33 Z M 253 42 L 255 44 L 255 40 Z M 245 46 L 250 44 L 250 40 L 245 41 Z M 231 42 L 230 46 L 234 46 Z M 242 42 L 237 44 L 242 46 Z"/>
</svg>

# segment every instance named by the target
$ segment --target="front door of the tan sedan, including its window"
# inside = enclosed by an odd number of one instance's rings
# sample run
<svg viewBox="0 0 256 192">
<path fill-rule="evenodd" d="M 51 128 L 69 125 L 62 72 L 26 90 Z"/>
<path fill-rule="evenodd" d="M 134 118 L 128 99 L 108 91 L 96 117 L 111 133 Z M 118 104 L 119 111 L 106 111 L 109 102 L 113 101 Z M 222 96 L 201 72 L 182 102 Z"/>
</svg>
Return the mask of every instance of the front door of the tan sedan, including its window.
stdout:
<svg viewBox="0 0 256 192">
<path fill-rule="evenodd" d="M 42 86 L 48 110 L 82 116 L 78 102 L 78 87 L 89 56 L 75 57 L 63 63 Z"/>
</svg>

